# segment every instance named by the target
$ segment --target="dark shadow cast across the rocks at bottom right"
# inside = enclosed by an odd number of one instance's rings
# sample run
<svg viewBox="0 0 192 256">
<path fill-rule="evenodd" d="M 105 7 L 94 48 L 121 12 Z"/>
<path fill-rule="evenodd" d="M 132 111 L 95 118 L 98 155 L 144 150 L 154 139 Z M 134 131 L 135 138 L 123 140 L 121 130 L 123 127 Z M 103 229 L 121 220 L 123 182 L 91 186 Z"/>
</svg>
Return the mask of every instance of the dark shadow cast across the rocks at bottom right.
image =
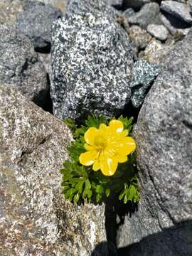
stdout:
<svg viewBox="0 0 192 256">
<path fill-rule="evenodd" d="M 171 228 L 164 228 L 161 232 L 148 235 L 141 242 L 133 245 L 113 251 L 111 249 L 108 241 L 102 242 L 95 247 L 92 256 L 191 256 L 192 220 L 177 223 Z"/>
</svg>

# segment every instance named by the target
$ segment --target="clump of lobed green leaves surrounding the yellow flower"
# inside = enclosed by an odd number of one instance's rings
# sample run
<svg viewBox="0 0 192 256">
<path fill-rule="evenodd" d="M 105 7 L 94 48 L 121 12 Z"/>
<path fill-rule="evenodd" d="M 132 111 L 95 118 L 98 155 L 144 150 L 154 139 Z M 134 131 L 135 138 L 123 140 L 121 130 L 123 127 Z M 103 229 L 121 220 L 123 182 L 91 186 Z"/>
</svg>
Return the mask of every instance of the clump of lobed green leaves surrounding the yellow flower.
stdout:
<svg viewBox="0 0 192 256">
<path fill-rule="evenodd" d="M 132 137 L 133 119 L 119 117 L 118 119 L 124 124 L 124 129 Z M 128 156 L 128 161 L 118 164 L 117 171 L 113 176 L 105 176 L 102 172 L 93 171 L 92 166 L 83 166 L 80 164 L 79 156 L 85 152 L 84 134 L 90 127 L 99 128 L 100 124 L 108 125 L 110 120 L 105 119 L 102 115 L 98 118 L 89 116 L 85 125 L 78 128 L 72 119 L 65 119 L 65 124 L 73 132 L 74 142 L 68 147 L 70 160 L 63 163 L 60 170 L 63 174 L 61 183 L 63 194 L 66 199 L 75 204 L 83 203 L 100 203 L 105 201 L 109 196 L 117 196 L 119 200 L 127 203 L 137 203 L 140 199 L 140 188 L 137 181 L 138 172 L 136 166 L 136 153 Z"/>
</svg>

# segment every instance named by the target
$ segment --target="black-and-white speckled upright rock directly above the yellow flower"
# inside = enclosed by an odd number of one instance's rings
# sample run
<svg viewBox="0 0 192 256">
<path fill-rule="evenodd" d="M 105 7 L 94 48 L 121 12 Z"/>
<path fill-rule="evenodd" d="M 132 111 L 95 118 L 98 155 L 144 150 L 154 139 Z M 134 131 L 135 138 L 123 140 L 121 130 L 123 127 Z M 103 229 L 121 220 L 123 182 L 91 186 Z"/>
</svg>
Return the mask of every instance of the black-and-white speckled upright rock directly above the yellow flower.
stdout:
<svg viewBox="0 0 192 256">
<path fill-rule="evenodd" d="M 53 26 L 52 99 L 59 118 L 118 114 L 129 102 L 132 46 L 118 23 L 95 12 Z"/>
</svg>

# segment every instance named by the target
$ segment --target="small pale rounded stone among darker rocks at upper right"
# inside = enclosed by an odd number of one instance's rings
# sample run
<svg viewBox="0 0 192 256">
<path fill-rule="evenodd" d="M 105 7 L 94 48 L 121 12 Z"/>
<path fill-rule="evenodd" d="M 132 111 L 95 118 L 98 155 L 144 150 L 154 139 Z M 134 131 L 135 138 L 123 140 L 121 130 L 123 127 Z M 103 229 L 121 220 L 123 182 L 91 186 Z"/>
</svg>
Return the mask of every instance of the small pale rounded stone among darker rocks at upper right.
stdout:
<svg viewBox="0 0 192 256">
<path fill-rule="evenodd" d="M 169 36 L 169 31 L 164 25 L 149 24 L 146 30 L 151 34 L 151 36 L 154 36 L 156 39 L 161 41 L 166 41 Z"/>
</svg>

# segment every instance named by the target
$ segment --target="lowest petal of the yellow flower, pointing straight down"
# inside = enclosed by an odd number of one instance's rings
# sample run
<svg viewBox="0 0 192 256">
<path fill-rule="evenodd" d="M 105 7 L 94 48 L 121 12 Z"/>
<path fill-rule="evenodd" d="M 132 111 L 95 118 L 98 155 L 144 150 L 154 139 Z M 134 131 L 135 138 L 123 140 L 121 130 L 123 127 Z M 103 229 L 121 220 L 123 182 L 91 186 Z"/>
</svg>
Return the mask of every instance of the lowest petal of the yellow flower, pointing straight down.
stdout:
<svg viewBox="0 0 192 256">
<path fill-rule="evenodd" d="M 117 170 L 117 164 L 118 164 L 117 157 L 113 157 L 113 158 L 105 157 L 105 159 L 103 159 L 100 164 L 102 174 L 104 174 L 105 176 L 112 176 Z"/>
</svg>

